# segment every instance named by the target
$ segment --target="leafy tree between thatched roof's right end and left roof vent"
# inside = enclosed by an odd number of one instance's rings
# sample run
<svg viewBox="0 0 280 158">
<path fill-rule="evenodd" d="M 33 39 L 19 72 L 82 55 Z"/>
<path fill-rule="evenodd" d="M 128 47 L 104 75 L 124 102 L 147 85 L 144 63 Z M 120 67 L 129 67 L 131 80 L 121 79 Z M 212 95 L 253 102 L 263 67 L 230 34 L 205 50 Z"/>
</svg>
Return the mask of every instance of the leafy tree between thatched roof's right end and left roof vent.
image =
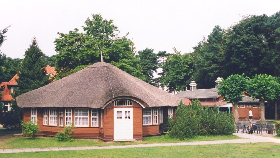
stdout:
<svg viewBox="0 0 280 158">
<path fill-rule="evenodd" d="M 180 51 L 174 49 L 174 54 L 169 55 L 163 64 L 163 82 L 167 85 L 167 90 L 174 94 L 176 91 L 185 90 L 190 82 L 192 67 L 192 56 L 189 54 L 181 55 Z"/>
</svg>

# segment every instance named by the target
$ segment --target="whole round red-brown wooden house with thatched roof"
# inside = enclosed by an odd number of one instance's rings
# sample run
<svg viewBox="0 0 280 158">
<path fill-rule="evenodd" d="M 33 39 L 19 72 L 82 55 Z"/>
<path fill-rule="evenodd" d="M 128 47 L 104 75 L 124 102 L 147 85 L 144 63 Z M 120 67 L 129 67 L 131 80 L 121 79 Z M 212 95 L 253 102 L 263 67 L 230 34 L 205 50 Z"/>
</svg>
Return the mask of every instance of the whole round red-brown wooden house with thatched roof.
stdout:
<svg viewBox="0 0 280 158">
<path fill-rule="evenodd" d="M 71 122 L 76 138 L 141 140 L 162 133 L 180 98 L 108 63 L 95 63 L 72 75 L 16 97 L 23 122 L 35 121 L 39 135 L 55 136 Z"/>
</svg>

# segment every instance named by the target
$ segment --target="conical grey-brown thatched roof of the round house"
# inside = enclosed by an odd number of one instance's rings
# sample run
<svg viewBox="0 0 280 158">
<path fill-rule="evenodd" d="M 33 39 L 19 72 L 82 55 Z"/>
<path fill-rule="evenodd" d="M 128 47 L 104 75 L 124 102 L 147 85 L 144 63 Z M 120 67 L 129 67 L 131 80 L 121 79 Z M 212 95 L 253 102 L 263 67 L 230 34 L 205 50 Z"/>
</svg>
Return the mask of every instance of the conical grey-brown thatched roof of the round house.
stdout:
<svg viewBox="0 0 280 158">
<path fill-rule="evenodd" d="M 112 90 L 114 98 L 129 97 L 144 107 L 177 106 L 180 102 L 179 97 L 104 62 L 19 95 L 16 100 L 19 107 L 101 108 L 113 99 Z"/>
</svg>

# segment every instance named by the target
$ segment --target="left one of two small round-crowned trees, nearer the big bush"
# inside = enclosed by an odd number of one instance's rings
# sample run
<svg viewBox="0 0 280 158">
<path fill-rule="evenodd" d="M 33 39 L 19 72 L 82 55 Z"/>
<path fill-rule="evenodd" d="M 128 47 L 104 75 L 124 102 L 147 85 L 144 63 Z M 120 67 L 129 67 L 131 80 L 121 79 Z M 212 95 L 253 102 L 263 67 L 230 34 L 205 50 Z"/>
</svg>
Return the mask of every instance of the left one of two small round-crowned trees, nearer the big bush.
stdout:
<svg viewBox="0 0 280 158">
<path fill-rule="evenodd" d="M 247 79 L 242 75 L 230 75 L 223 82 L 220 82 L 221 86 L 218 87 L 218 94 L 221 95 L 225 101 L 233 103 L 234 106 L 234 120 L 237 122 L 239 120 L 238 114 L 238 101 L 241 101 L 243 96 L 243 90 L 246 88 Z"/>
</svg>

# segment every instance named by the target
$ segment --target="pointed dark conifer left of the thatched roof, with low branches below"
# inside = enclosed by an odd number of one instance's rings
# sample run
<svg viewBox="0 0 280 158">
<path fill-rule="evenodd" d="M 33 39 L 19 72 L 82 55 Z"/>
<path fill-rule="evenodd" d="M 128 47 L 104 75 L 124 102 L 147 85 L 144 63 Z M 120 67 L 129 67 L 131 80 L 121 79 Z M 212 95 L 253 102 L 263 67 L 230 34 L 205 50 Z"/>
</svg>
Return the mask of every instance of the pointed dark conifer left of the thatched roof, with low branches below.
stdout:
<svg viewBox="0 0 280 158">
<path fill-rule="evenodd" d="M 49 75 L 46 75 L 43 57 L 46 55 L 39 49 L 36 38 L 32 40 L 28 50 L 24 53 L 24 59 L 20 64 L 20 71 L 16 79 L 18 87 L 14 89 L 13 98 L 47 85 L 50 83 Z M 22 109 L 17 106 L 16 100 L 12 101 L 12 109 L 6 113 L 5 125 L 8 128 L 20 127 L 22 122 Z M 9 121 L 7 121 L 9 120 Z"/>
</svg>

